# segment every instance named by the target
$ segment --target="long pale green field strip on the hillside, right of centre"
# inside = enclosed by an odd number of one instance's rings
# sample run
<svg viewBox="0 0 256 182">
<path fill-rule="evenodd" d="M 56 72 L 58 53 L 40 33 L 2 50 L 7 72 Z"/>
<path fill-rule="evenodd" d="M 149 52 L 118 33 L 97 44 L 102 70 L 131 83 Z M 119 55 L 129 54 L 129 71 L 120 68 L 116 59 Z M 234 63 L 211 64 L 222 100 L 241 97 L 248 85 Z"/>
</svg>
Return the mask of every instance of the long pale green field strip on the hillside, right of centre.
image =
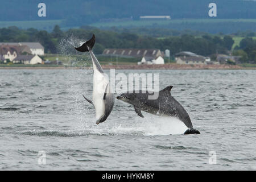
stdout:
<svg viewBox="0 0 256 182">
<path fill-rule="evenodd" d="M 172 30 L 193 30 L 216 34 L 231 34 L 238 31 L 256 31 L 256 19 L 171 19 L 171 20 L 129 20 L 119 22 L 97 22 L 90 26 L 98 28 L 168 28 Z"/>
</svg>

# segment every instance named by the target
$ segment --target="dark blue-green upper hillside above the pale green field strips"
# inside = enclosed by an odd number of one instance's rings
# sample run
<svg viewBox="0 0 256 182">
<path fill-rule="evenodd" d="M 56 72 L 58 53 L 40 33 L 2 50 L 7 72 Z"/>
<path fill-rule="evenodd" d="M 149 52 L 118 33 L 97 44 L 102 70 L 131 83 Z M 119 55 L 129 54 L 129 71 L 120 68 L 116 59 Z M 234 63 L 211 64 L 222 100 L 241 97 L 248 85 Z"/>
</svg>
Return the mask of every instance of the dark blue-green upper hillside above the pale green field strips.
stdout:
<svg viewBox="0 0 256 182">
<path fill-rule="evenodd" d="M 173 19 L 209 18 L 208 5 L 217 4 L 218 19 L 254 19 L 256 2 L 243 0 L 44 0 L 46 18 L 37 15 L 39 0 L 2 1 L 0 21 L 65 19 L 66 26 L 81 26 L 109 19 L 138 19 L 141 15 L 170 15 Z M 11 8 L 8 8 L 11 7 Z"/>
</svg>

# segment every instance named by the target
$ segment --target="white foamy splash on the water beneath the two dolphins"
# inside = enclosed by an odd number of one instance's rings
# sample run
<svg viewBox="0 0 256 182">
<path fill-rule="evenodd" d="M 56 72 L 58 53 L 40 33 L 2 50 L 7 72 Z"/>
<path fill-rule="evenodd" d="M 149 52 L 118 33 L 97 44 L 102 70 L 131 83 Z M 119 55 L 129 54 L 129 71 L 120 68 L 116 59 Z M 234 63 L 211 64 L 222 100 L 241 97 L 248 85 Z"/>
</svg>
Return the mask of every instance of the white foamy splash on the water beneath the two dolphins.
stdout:
<svg viewBox="0 0 256 182">
<path fill-rule="evenodd" d="M 131 123 L 130 126 L 94 126 L 90 125 L 84 129 L 61 131 L 61 130 L 41 130 L 24 131 L 23 135 L 38 137 L 84 137 L 88 135 L 130 135 L 130 136 L 154 136 L 154 135 L 176 135 L 183 134 L 188 128 L 183 122 L 176 118 L 158 118 L 151 121 Z M 80 127 L 81 128 L 81 127 Z"/>
</svg>

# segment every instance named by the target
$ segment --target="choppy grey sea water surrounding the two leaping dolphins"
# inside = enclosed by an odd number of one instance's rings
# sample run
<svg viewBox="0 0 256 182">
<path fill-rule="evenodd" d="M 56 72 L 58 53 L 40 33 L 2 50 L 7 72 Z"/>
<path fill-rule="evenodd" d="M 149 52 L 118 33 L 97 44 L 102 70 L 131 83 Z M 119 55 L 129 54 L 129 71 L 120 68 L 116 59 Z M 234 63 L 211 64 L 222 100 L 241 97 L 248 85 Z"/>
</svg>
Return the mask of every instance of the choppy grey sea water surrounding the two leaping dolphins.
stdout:
<svg viewBox="0 0 256 182">
<path fill-rule="evenodd" d="M 201 134 L 177 135 L 173 119 L 119 100 L 96 125 L 81 96 L 92 97 L 90 70 L 0 69 L 0 169 L 256 169 L 256 71 L 116 72 L 159 73 Z"/>
</svg>

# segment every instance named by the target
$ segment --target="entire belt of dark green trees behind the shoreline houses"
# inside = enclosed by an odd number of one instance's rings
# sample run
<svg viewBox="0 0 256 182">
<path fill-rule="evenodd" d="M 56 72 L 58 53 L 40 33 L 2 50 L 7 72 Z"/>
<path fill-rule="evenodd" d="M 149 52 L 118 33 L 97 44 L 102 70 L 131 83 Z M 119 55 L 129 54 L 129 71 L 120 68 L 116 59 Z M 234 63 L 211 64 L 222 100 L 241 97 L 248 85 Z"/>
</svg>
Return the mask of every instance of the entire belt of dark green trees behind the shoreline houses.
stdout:
<svg viewBox="0 0 256 182">
<path fill-rule="evenodd" d="M 143 36 L 130 32 L 100 30 L 94 27 L 74 28 L 61 31 L 55 26 L 52 32 L 39 31 L 34 28 L 20 30 L 17 27 L 0 28 L 0 42 L 40 42 L 46 53 L 59 53 L 61 40 L 75 37 L 80 40 L 96 35 L 97 42 L 93 51 L 101 54 L 105 48 L 158 48 L 162 51 L 170 49 L 171 55 L 180 51 L 191 51 L 199 55 L 209 56 L 214 53 L 227 53 L 232 49 L 234 40 L 230 35 L 181 35 L 167 38 Z M 75 53 L 75 49 L 73 53 Z M 256 40 L 245 38 L 236 47 L 235 55 L 241 55 L 243 61 L 255 61 Z M 246 53 L 246 55 L 245 55 Z"/>
</svg>

